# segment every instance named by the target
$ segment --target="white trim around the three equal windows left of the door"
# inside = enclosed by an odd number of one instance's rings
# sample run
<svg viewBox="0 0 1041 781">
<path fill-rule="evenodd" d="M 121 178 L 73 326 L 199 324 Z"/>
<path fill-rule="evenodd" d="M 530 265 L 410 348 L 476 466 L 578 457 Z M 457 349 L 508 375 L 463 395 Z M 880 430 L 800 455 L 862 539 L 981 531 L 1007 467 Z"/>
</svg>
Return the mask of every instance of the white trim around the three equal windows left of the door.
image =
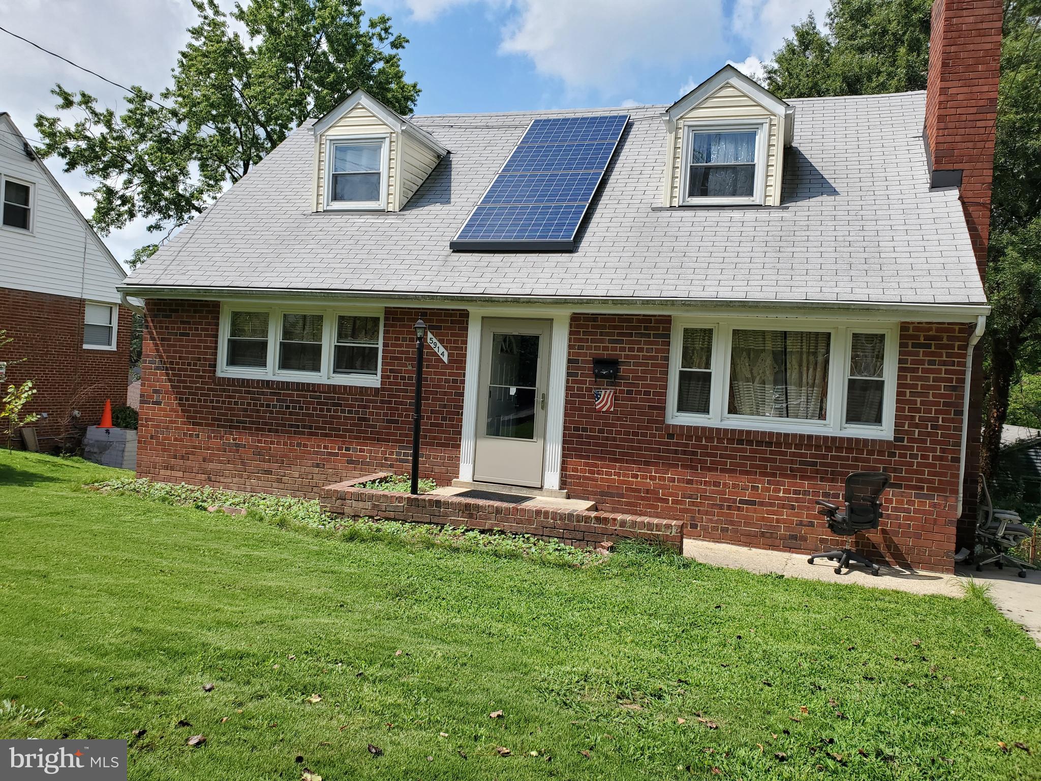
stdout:
<svg viewBox="0 0 1041 781">
<path fill-rule="evenodd" d="M 263 369 L 229 367 L 227 364 L 228 335 L 231 331 L 231 312 L 258 311 L 268 313 L 268 364 Z M 278 369 L 278 343 L 282 333 L 283 314 L 321 314 L 322 320 L 322 370 L 319 372 L 296 372 Z M 380 319 L 380 335 L 376 358 L 376 374 L 335 374 L 333 350 L 336 343 L 336 317 L 358 316 Z M 266 306 L 225 301 L 221 303 L 221 324 L 218 329 L 217 376 L 237 377 L 251 380 L 281 380 L 284 382 L 313 382 L 323 385 L 355 385 L 379 387 L 383 376 L 383 307 L 351 306 L 327 307 L 302 304 L 294 306 L 280 304 Z"/>
</svg>

